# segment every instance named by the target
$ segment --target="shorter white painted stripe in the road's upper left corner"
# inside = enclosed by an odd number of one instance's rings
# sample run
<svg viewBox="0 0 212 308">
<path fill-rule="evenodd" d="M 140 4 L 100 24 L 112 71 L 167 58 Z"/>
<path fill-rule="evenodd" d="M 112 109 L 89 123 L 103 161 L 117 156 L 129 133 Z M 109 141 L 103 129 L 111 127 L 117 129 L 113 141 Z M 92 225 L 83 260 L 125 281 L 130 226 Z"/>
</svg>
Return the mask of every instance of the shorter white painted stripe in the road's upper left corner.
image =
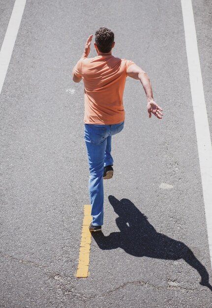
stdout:
<svg viewBox="0 0 212 308">
<path fill-rule="evenodd" d="M 6 72 L 15 45 L 26 0 L 16 0 L 9 20 L 6 34 L 0 50 L 0 93 L 6 77 Z"/>
</svg>

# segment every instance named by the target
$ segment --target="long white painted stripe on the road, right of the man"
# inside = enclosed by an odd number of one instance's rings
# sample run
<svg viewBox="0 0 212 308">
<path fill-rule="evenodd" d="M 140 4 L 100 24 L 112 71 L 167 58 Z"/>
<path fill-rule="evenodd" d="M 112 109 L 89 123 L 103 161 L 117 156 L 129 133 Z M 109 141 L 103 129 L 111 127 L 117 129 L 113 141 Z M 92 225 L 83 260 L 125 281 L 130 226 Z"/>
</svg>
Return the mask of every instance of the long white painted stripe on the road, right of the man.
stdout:
<svg viewBox="0 0 212 308">
<path fill-rule="evenodd" d="M 192 2 L 191 0 L 181 0 L 181 4 L 209 248 L 212 262 L 212 143 L 203 90 Z"/>
</svg>

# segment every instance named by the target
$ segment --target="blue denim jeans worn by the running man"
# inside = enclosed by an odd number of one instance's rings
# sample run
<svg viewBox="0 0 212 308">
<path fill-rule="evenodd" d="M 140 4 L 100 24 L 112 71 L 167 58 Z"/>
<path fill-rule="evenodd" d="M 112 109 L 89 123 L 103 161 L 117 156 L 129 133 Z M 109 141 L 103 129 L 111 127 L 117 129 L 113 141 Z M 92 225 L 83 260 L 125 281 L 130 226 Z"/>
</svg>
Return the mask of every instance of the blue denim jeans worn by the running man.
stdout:
<svg viewBox="0 0 212 308">
<path fill-rule="evenodd" d="M 113 165 L 111 139 L 123 129 L 124 121 L 118 124 L 84 124 L 89 162 L 89 194 L 91 199 L 92 225 L 103 224 L 103 172 L 104 166 Z"/>
</svg>

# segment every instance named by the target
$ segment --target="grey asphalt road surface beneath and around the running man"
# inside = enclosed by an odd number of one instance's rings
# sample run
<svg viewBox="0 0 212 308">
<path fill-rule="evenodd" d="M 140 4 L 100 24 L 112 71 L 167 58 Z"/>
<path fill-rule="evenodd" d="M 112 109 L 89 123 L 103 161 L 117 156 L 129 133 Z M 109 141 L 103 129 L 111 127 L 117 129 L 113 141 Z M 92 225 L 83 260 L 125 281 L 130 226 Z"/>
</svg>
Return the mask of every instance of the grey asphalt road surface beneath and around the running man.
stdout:
<svg viewBox="0 0 212 308">
<path fill-rule="evenodd" d="M 14 2 L 0 0 L 0 46 Z M 212 137 L 212 2 L 192 4 Z M 147 71 L 164 118 L 149 119 L 142 86 L 128 77 L 103 235 L 92 238 L 89 277 L 76 278 L 90 200 L 83 84 L 71 70 L 102 26 L 115 32 L 113 54 Z M 27 0 L 0 129 L 0 308 L 212 307 L 180 0 Z"/>
</svg>

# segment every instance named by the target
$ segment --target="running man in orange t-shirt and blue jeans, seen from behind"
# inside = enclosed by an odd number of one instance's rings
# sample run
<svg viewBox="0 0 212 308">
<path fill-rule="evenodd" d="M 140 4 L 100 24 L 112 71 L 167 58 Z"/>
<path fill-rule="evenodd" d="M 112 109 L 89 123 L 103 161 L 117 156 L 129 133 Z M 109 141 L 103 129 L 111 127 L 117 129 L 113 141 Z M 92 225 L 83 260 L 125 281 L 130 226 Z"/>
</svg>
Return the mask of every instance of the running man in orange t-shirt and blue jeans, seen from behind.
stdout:
<svg viewBox="0 0 212 308">
<path fill-rule="evenodd" d="M 89 36 L 84 53 L 75 65 L 72 76 L 74 82 L 84 81 L 85 117 L 84 138 L 87 147 L 90 178 L 92 222 L 90 231 L 100 231 L 103 224 L 103 179 L 113 176 L 111 139 L 123 129 L 123 91 L 126 77 L 141 81 L 147 96 L 149 117 L 153 114 L 162 119 L 162 109 L 153 100 L 148 75 L 130 60 L 112 56 L 115 45 L 114 33 L 105 27 L 95 32 L 94 47 L 97 56 L 88 58 L 92 34 Z"/>
</svg>

